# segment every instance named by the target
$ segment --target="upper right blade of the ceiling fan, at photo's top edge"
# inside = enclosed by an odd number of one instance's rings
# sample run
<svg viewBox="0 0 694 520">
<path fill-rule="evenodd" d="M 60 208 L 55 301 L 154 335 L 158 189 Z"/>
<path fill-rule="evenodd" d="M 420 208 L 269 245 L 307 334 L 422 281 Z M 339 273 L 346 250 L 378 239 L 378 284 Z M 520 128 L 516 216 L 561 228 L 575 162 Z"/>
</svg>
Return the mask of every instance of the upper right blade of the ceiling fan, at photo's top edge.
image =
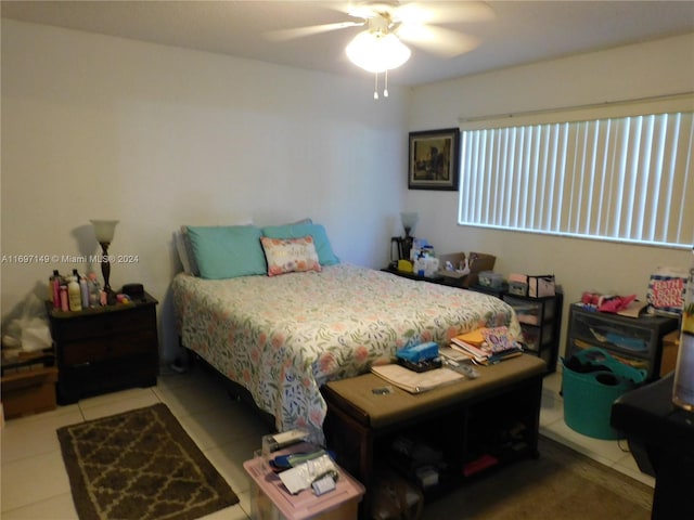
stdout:
<svg viewBox="0 0 694 520">
<path fill-rule="evenodd" d="M 489 22 L 496 13 L 486 2 L 409 2 L 395 8 L 395 17 L 417 24 L 458 24 Z"/>
</svg>

